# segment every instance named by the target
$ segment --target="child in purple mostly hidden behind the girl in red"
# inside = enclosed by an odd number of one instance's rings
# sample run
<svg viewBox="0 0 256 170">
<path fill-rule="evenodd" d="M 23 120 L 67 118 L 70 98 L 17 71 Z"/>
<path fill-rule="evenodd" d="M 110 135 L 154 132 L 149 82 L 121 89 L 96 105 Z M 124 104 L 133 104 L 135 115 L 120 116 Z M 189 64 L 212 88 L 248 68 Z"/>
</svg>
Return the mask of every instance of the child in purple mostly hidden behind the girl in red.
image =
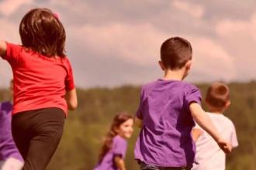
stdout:
<svg viewBox="0 0 256 170">
<path fill-rule="evenodd" d="M 13 81 L 10 82 L 10 92 L 13 90 Z M 0 103 L 0 169 L 21 170 L 24 164 L 22 156 L 12 139 L 11 130 L 12 102 Z"/>
</svg>

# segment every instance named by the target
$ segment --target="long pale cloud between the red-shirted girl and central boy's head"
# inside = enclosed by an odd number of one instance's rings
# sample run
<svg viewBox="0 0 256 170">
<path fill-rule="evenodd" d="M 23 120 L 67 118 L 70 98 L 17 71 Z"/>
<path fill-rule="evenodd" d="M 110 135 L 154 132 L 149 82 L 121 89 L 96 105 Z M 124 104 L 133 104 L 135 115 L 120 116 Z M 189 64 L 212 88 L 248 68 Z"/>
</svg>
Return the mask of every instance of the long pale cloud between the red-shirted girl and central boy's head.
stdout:
<svg viewBox="0 0 256 170">
<path fill-rule="evenodd" d="M 72 27 L 69 32 L 81 44 L 87 45 L 84 48 L 99 53 L 99 56 L 100 53 L 109 57 L 119 56 L 141 65 L 156 63 L 161 42 L 170 36 L 148 24 L 85 25 Z"/>
</svg>

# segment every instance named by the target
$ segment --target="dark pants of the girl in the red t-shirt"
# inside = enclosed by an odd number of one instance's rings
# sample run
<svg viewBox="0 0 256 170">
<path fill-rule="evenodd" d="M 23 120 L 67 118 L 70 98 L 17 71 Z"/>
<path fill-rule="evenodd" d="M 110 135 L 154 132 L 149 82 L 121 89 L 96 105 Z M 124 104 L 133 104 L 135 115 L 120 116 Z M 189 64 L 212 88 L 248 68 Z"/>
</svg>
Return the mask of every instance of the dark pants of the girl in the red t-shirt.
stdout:
<svg viewBox="0 0 256 170">
<path fill-rule="evenodd" d="M 23 170 L 44 170 L 61 141 L 65 114 L 59 108 L 29 110 L 12 117 L 12 136 L 25 160 Z"/>
</svg>

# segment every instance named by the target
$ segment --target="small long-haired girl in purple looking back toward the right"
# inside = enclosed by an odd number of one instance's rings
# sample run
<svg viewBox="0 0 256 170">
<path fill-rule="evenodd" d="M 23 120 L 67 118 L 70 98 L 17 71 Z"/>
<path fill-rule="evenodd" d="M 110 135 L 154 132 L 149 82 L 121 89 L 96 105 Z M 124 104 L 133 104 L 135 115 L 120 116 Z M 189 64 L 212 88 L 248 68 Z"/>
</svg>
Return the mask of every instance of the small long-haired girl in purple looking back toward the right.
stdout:
<svg viewBox="0 0 256 170">
<path fill-rule="evenodd" d="M 117 114 L 103 142 L 99 162 L 94 170 L 125 170 L 127 139 L 133 134 L 133 117 Z"/>
</svg>

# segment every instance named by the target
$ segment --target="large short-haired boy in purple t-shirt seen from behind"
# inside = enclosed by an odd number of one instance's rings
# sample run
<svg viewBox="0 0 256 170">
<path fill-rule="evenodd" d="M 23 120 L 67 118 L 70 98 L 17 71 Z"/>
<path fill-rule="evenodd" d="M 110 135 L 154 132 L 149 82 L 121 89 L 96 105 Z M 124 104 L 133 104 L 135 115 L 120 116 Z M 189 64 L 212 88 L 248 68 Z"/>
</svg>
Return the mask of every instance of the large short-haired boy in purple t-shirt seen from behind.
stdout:
<svg viewBox="0 0 256 170">
<path fill-rule="evenodd" d="M 199 89 L 182 81 L 192 65 L 190 43 L 180 37 L 167 39 L 161 46 L 159 64 L 164 77 L 142 87 L 135 118 L 141 131 L 134 153 L 141 169 L 191 169 L 195 158 L 193 118 L 223 151 L 230 152 L 230 144 L 200 106 Z"/>
</svg>

